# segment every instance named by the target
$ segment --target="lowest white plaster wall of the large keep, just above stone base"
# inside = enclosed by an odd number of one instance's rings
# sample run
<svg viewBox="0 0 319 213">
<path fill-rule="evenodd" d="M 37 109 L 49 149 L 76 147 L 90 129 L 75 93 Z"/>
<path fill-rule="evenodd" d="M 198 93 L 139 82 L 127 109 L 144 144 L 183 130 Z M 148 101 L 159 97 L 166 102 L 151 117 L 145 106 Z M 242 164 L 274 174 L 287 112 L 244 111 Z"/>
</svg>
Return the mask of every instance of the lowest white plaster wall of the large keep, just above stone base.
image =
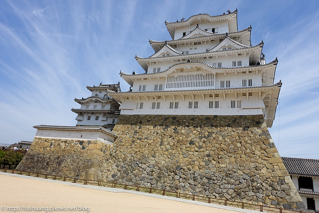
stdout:
<svg viewBox="0 0 319 213">
<path fill-rule="evenodd" d="M 205 95 L 204 100 L 201 95 L 194 95 L 194 101 L 198 101 L 198 108 L 188 108 L 189 101 L 193 101 L 191 95 L 185 95 L 184 100 L 180 95 L 175 95 L 175 100 L 172 97 L 166 96 L 166 100 L 163 100 L 163 97 L 158 99 L 153 98 L 149 99 L 149 101 L 141 97 L 140 101 L 137 98 L 133 98 L 132 102 L 130 100 L 125 100 L 122 103 L 120 109 L 121 114 L 168 114 L 168 115 L 259 115 L 263 114 L 264 104 L 257 94 L 253 94 L 249 96 L 249 100 L 247 100 L 246 96 L 242 96 L 238 94 L 237 100 L 242 101 L 241 108 L 231 108 L 231 101 L 236 100 L 233 94 L 226 95 L 226 99 L 223 99 L 223 95 L 220 94 L 221 97 L 216 97 L 215 100 L 219 101 L 219 108 L 209 108 L 209 101 L 213 101 L 212 97 L 209 95 Z M 136 108 L 137 103 L 143 102 L 143 109 Z M 153 102 L 160 102 L 160 109 L 152 109 Z M 178 109 L 170 109 L 170 102 L 178 102 Z M 237 103 L 236 103 L 237 105 Z M 193 103 L 194 107 L 194 103 Z"/>
</svg>

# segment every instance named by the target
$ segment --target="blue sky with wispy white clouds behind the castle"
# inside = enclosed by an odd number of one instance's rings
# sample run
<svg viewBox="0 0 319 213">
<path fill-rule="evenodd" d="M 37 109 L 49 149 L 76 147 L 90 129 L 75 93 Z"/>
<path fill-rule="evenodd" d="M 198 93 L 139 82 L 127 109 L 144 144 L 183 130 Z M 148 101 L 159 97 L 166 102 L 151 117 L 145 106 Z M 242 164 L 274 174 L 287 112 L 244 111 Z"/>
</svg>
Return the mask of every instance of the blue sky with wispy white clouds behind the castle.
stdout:
<svg viewBox="0 0 319 213">
<path fill-rule="evenodd" d="M 319 159 L 318 0 L 1 0 L 0 143 L 32 141 L 35 125 L 76 124 L 74 98 L 86 86 L 129 86 L 119 72 L 143 73 L 149 39 L 170 40 L 164 21 L 238 9 L 282 80 L 274 125 L 281 156 Z"/>
</svg>

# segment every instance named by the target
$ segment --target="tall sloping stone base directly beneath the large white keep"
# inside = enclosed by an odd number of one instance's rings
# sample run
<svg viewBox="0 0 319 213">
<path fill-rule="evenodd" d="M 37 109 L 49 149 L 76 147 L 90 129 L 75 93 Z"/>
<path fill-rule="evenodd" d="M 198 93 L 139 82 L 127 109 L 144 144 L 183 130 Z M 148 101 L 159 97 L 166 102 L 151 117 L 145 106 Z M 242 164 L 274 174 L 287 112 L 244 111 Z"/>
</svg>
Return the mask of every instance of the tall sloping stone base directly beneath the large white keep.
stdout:
<svg viewBox="0 0 319 213">
<path fill-rule="evenodd" d="M 303 209 L 263 116 L 120 115 L 103 179 Z"/>
</svg>

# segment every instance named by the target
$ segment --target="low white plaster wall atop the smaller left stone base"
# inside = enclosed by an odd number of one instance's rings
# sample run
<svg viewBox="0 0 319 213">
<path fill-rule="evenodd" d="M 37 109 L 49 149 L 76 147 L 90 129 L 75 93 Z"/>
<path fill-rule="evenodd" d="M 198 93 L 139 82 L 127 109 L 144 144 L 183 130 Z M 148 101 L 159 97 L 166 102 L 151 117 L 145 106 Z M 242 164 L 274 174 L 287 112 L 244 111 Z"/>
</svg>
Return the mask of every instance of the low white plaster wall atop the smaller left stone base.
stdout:
<svg viewBox="0 0 319 213">
<path fill-rule="evenodd" d="M 98 140 L 106 144 L 113 144 L 115 137 L 108 135 L 102 131 L 88 130 L 47 130 L 37 129 L 35 137 L 40 138 L 61 138 L 73 140 Z"/>
</svg>

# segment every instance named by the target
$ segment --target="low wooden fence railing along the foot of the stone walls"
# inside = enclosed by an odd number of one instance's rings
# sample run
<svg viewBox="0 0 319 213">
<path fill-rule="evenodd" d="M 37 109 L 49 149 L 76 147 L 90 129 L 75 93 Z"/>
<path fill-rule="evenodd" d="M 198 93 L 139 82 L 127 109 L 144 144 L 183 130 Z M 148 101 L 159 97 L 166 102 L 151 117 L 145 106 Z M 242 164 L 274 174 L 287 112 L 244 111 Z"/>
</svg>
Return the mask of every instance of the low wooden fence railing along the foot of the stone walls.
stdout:
<svg viewBox="0 0 319 213">
<path fill-rule="evenodd" d="M 153 188 L 142 187 L 142 186 L 119 184 L 119 183 L 114 183 L 114 182 L 110 183 L 110 182 L 102 182 L 102 181 L 83 180 L 83 179 L 70 178 L 70 177 L 65 177 L 65 176 L 63 177 L 63 176 L 48 175 L 48 174 L 42 174 L 42 173 L 15 171 L 14 169 L 10 170 L 10 169 L 6 169 L 6 168 L 0 168 L 0 172 L 8 172 L 8 173 L 12 173 L 12 174 L 26 175 L 26 176 L 32 176 L 32 177 L 38 177 L 38 178 L 44 178 L 44 179 L 67 181 L 67 182 L 72 182 L 72 183 L 80 183 L 80 184 L 84 184 L 84 185 L 95 185 L 95 186 L 102 186 L 102 187 L 109 187 L 109 188 L 132 190 L 132 191 L 145 192 L 145 193 L 151 193 L 151 194 L 157 194 L 157 195 L 163 195 L 163 196 L 169 196 L 169 197 L 175 197 L 175 198 L 182 198 L 182 199 L 193 200 L 193 201 L 200 201 L 200 202 L 205 202 L 205 203 L 212 203 L 212 204 L 219 204 L 219 205 L 230 206 L 230 207 L 237 207 L 237 208 L 241 208 L 241 209 L 255 210 L 255 211 L 260 211 L 260 212 L 305 213 L 303 211 L 288 210 L 288 209 L 278 208 L 278 207 L 269 207 L 269 206 L 265 206 L 265 205 L 249 204 L 249 203 L 244 203 L 244 202 L 239 202 L 239 201 L 230 201 L 230 200 L 225 200 L 225 199 L 217 199 L 217 198 L 206 197 L 206 196 L 184 194 L 184 193 L 179 193 L 179 192 L 159 190 L 159 189 L 153 189 Z"/>
</svg>

